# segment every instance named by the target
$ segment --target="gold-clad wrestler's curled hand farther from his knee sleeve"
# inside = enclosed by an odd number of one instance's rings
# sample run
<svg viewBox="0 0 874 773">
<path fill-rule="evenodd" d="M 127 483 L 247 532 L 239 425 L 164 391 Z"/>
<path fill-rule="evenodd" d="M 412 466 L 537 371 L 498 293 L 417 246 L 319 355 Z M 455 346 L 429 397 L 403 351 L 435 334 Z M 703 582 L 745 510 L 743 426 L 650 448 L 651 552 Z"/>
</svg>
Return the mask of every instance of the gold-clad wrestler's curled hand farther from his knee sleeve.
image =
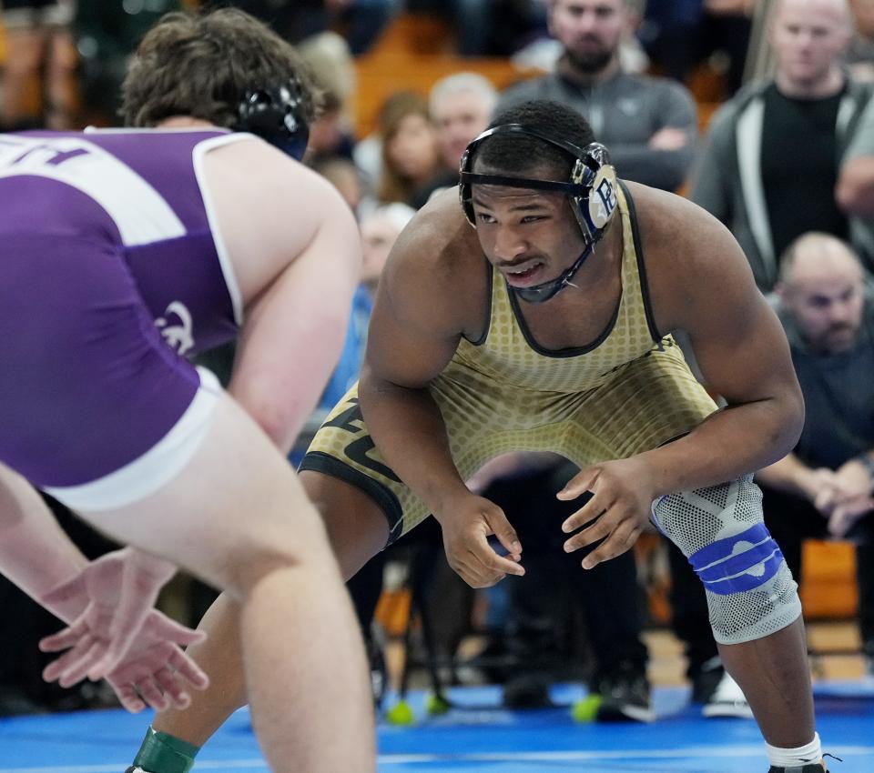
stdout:
<svg viewBox="0 0 874 773">
<path fill-rule="evenodd" d="M 507 575 L 523 576 L 522 544 L 503 510 L 473 494 L 446 502 L 434 517 L 443 532 L 449 566 L 471 587 L 492 587 Z M 507 556 L 489 544 L 497 537 Z"/>
</svg>

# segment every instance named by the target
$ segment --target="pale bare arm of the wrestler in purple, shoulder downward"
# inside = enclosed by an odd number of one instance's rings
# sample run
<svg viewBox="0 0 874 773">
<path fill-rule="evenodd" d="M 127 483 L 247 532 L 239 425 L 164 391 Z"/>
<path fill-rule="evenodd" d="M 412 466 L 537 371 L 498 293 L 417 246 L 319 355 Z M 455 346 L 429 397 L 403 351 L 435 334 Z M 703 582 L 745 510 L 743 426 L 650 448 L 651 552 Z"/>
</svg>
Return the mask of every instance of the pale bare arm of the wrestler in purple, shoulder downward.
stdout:
<svg viewBox="0 0 874 773">
<path fill-rule="evenodd" d="M 229 393 L 288 453 L 337 365 L 361 237 L 326 180 L 260 140 L 206 169 L 246 313 Z"/>
</svg>

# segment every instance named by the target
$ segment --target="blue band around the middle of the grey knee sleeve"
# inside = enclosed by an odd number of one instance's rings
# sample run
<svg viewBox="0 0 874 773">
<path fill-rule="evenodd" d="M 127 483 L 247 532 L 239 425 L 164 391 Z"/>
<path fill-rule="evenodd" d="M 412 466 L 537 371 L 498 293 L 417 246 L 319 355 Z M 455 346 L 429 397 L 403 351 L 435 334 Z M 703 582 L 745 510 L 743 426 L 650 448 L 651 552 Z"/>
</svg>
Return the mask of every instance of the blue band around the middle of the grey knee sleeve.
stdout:
<svg viewBox="0 0 874 773">
<path fill-rule="evenodd" d="M 704 587 L 727 596 L 767 583 L 783 563 L 780 548 L 764 524 L 756 524 L 733 537 L 719 539 L 689 556 Z"/>
</svg>

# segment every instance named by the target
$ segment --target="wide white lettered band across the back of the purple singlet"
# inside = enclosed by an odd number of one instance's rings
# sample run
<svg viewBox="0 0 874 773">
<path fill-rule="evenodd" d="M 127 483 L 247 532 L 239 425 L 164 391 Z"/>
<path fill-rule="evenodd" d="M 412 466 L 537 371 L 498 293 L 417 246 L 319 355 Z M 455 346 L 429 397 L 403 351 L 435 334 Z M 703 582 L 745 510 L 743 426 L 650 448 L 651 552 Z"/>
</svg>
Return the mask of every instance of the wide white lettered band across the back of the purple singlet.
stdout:
<svg viewBox="0 0 874 773">
<path fill-rule="evenodd" d="M 115 222 L 122 244 L 147 245 L 186 229 L 154 187 L 82 137 L 0 135 L 0 177 L 46 177 L 82 191 Z"/>
</svg>

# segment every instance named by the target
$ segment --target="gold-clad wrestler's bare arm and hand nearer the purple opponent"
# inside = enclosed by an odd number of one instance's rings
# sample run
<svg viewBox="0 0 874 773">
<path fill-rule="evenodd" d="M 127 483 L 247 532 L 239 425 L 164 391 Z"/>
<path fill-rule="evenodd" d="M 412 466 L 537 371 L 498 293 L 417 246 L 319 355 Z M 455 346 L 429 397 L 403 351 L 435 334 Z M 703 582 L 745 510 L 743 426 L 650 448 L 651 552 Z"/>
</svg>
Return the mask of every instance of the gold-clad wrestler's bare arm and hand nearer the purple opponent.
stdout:
<svg viewBox="0 0 874 773">
<path fill-rule="evenodd" d="M 516 563 L 522 547 L 503 511 L 465 487 L 427 388 L 462 334 L 484 324 L 484 258 L 453 198 L 427 207 L 391 252 L 359 392 L 382 456 L 440 522 L 450 565 L 473 587 L 487 587 L 508 573 L 523 574 Z M 516 560 L 493 551 L 493 534 Z"/>
</svg>

